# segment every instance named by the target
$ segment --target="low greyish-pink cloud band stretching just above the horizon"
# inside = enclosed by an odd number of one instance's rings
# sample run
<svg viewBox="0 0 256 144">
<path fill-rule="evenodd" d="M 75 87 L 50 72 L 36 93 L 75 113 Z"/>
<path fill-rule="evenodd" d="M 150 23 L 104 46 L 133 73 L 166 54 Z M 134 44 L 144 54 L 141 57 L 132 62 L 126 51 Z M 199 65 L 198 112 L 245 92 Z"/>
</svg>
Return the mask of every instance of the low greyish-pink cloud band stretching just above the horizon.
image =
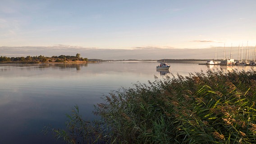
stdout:
<svg viewBox="0 0 256 144">
<path fill-rule="evenodd" d="M 252 46 L 251 46 L 252 47 Z M 8 47 L 0 46 L 0 56 L 20 57 L 20 56 L 59 56 L 81 54 L 83 58 L 99 59 L 213 59 L 215 58 L 215 47 L 207 49 L 174 49 L 159 47 L 136 47 L 138 49 L 74 49 L 72 46 L 24 46 Z M 254 48 L 254 47 L 253 47 Z M 230 49 L 230 48 L 229 48 Z M 224 47 L 217 47 L 217 58 L 224 58 Z M 227 50 L 228 51 L 228 50 Z M 238 55 L 238 47 L 233 47 L 233 56 Z"/>
</svg>

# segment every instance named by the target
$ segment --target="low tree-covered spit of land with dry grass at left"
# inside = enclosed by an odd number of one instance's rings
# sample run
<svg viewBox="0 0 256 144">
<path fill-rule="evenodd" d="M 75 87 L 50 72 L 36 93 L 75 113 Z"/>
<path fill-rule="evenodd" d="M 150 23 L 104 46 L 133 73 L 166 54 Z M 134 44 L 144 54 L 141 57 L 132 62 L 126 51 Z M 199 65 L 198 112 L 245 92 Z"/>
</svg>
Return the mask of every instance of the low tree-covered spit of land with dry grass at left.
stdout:
<svg viewBox="0 0 256 144">
<path fill-rule="evenodd" d="M 27 57 L 6 57 L 0 56 L 0 62 L 68 62 L 68 61 L 88 61 L 88 58 L 80 57 L 80 54 L 76 56 L 70 55 L 59 55 L 46 57 L 43 55 L 39 56 L 27 56 Z"/>
</svg>

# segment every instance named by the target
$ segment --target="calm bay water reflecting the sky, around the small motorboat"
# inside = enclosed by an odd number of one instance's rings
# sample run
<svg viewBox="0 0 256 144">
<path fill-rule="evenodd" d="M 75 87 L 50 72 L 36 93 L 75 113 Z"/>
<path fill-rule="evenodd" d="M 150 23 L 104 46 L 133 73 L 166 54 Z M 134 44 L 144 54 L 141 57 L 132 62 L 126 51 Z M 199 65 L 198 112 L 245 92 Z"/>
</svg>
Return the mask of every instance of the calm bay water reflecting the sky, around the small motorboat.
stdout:
<svg viewBox="0 0 256 144">
<path fill-rule="evenodd" d="M 223 68 L 250 70 L 247 66 L 206 66 L 169 63 L 170 71 L 157 72 L 156 62 L 89 64 L 0 64 L 0 144 L 61 144 L 41 130 L 51 124 L 64 128 L 66 113 L 78 105 L 87 120 L 101 97 L 121 86 L 133 87 L 159 78 Z M 171 72 L 171 73 L 170 73 Z"/>
</svg>

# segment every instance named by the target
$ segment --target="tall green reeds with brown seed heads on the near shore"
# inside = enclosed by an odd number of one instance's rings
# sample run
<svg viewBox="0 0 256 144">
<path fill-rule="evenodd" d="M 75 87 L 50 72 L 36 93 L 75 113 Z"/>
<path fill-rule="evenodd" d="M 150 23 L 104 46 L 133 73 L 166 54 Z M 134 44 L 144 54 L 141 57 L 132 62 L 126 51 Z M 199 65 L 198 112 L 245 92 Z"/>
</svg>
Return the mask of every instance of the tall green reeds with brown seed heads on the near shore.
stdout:
<svg viewBox="0 0 256 144">
<path fill-rule="evenodd" d="M 69 144 L 254 144 L 256 72 L 233 70 L 172 76 L 120 88 L 95 106 L 100 120 L 82 120 L 76 106 Z"/>
</svg>

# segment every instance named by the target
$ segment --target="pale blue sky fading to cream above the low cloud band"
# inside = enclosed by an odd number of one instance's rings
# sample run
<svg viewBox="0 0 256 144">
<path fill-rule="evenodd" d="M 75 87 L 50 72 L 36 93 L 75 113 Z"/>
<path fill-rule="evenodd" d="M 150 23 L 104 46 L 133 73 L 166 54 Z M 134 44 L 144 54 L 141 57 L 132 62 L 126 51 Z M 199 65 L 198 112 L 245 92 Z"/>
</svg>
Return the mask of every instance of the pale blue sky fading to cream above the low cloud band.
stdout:
<svg viewBox="0 0 256 144">
<path fill-rule="evenodd" d="M 255 14 L 256 0 L 1 0 L 0 55 L 75 49 L 111 59 L 106 51 L 188 49 L 183 58 L 192 49 L 255 46 Z"/>
</svg>

